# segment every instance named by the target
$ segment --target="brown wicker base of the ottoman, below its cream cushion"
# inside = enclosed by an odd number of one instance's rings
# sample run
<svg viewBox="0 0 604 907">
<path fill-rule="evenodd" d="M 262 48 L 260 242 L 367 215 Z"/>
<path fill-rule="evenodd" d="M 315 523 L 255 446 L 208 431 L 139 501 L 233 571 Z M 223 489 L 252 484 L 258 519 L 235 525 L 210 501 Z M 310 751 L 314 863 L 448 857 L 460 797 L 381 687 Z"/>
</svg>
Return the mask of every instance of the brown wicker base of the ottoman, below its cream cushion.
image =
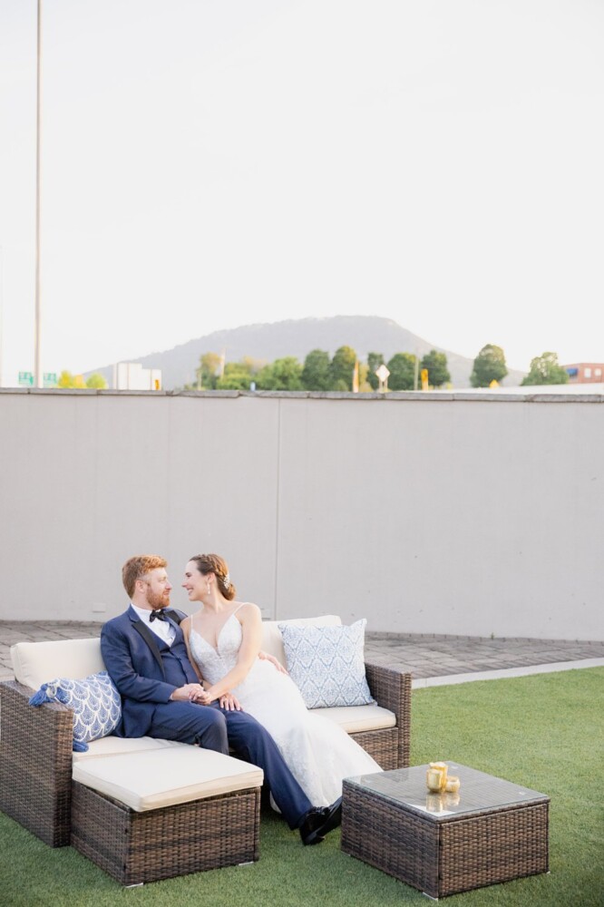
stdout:
<svg viewBox="0 0 604 907">
<path fill-rule="evenodd" d="M 72 845 L 122 885 L 258 860 L 260 788 L 135 813 L 73 782 Z"/>
</svg>

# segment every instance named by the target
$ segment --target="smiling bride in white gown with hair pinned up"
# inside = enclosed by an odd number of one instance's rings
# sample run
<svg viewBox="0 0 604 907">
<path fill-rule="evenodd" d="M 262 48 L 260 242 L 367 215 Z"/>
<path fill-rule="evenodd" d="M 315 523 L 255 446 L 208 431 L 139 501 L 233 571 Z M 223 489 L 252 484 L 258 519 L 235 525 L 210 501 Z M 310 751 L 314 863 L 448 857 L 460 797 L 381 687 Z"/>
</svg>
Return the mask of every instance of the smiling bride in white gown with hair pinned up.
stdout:
<svg viewBox="0 0 604 907">
<path fill-rule="evenodd" d="M 201 610 L 180 624 L 190 661 L 206 688 L 206 705 L 231 694 L 267 728 L 311 803 L 329 805 L 342 795 L 342 779 L 381 771 L 374 759 L 329 718 L 307 710 L 296 684 L 258 653 L 258 605 L 235 600 L 225 561 L 198 554 L 182 586 Z"/>
</svg>

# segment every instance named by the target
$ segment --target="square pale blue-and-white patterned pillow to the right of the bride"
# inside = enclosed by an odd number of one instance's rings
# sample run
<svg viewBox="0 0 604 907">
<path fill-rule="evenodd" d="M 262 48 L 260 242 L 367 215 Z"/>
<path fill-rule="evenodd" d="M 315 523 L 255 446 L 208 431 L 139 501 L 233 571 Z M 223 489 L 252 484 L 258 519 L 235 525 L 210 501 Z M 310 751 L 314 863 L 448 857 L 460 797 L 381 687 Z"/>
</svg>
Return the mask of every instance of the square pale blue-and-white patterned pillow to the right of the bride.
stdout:
<svg viewBox="0 0 604 907">
<path fill-rule="evenodd" d="M 365 678 L 365 625 L 294 627 L 279 624 L 287 670 L 307 708 L 375 702 Z"/>
</svg>

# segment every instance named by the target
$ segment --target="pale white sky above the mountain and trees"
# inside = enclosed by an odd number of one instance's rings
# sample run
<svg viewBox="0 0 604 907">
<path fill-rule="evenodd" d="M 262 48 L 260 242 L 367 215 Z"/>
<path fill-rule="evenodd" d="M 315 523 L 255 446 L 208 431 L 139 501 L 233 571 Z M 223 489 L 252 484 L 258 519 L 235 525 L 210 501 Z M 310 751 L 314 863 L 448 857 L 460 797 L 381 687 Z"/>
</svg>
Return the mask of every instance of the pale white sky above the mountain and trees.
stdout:
<svg viewBox="0 0 604 907">
<path fill-rule="evenodd" d="M 34 367 L 36 0 L 0 0 L 0 373 Z M 377 315 L 604 361 L 604 0 L 43 0 L 46 372 Z"/>
</svg>

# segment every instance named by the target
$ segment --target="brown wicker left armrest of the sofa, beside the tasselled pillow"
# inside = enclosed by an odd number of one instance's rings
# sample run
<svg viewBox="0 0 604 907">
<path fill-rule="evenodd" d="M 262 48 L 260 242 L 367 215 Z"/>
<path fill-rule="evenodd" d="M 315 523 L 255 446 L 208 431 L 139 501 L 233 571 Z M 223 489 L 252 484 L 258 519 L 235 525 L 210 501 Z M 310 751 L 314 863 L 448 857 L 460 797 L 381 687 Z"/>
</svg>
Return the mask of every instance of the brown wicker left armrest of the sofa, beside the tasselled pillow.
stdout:
<svg viewBox="0 0 604 907">
<path fill-rule="evenodd" d="M 33 690 L 0 683 L 0 809 L 51 847 L 69 844 L 73 712 L 30 706 Z"/>
</svg>

